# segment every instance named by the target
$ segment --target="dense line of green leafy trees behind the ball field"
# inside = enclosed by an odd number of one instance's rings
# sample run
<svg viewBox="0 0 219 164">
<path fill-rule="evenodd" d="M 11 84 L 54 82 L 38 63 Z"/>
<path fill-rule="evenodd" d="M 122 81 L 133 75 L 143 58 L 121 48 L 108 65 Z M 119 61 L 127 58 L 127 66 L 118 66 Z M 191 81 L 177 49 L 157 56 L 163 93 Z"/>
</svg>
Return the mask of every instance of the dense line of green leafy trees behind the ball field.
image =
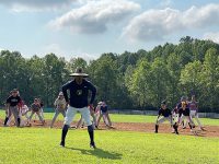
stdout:
<svg viewBox="0 0 219 164">
<path fill-rule="evenodd" d="M 82 58 L 66 61 L 55 54 L 25 59 L 18 51 L 2 50 L 1 105 L 9 91 L 18 87 L 27 104 L 41 97 L 46 106 L 53 106 L 60 86 L 78 66 L 96 85 L 96 101 L 106 101 L 112 108 L 155 108 L 163 99 L 174 107 L 182 95 L 195 94 L 203 112 L 219 112 L 219 45 L 189 36 L 178 45 L 166 43 L 151 51 L 103 54 L 89 63 Z"/>
</svg>

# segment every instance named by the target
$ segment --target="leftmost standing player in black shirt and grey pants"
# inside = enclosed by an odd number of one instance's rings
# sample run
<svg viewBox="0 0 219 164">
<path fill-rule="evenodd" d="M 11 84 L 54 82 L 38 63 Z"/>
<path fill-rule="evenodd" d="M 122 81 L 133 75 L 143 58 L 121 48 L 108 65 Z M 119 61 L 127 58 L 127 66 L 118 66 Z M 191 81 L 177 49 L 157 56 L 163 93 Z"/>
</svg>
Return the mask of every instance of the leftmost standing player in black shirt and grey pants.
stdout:
<svg viewBox="0 0 219 164">
<path fill-rule="evenodd" d="M 13 89 L 11 95 L 7 98 L 8 115 L 4 119 L 4 126 L 7 127 L 8 120 L 13 114 L 16 127 L 20 127 L 21 119 L 19 117 L 18 104 L 21 103 L 21 97 L 18 95 L 18 90 Z"/>
</svg>

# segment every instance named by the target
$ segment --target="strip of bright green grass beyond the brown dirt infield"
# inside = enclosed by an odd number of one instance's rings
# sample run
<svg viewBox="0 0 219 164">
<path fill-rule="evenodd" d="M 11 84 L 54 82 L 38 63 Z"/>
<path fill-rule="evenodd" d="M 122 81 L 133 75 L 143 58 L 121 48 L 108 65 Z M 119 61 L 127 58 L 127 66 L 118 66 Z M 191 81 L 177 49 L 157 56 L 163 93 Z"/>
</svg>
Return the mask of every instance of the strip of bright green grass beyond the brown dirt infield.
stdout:
<svg viewBox="0 0 219 164">
<path fill-rule="evenodd" d="M 46 119 L 53 119 L 53 113 L 45 113 Z M 3 110 L 0 110 L 0 118 L 4 119 L 5 114 Z M 74 120 L 79 120 L 80 115 L 77 114 Z M 59 115 L 59 120 L 62 120 L 62 115 Z M 146 116 L 146 115 L 118 115 L 118 114 L 111 114 L 111 119 L 113 122 L 154 122 L 157 116 Z M 210 119 L 210 118 L 200 118 L 203 125 L 208 126 L 219 126 L 219 119 Z"/>
</svg>

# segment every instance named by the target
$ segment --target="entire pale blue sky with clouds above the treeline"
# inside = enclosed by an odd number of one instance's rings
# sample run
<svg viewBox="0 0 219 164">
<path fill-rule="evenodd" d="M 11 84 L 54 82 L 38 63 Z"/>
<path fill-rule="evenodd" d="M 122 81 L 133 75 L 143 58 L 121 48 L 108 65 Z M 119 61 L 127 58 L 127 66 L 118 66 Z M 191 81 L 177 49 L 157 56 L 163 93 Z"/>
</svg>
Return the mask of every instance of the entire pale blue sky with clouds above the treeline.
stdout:
<svg viewBox="0 0 219 164">
<path fill-rule="evenodd" d="M 1 0 L 0 50 L 96 59 L 182 36 L 219 43 L 217 0 Z"/>
</svg>

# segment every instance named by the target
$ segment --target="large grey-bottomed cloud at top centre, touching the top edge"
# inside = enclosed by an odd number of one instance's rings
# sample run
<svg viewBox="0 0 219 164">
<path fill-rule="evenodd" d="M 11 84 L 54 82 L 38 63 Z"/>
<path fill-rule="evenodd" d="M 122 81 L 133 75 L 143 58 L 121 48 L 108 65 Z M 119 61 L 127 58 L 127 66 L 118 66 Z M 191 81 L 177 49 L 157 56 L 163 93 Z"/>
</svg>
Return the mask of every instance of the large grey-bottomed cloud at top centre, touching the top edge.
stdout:
<svg viewBox="0 0 219 164">
<path fill-rule="evenodd" d="M 73 33 L 103 33 L 108 24 L 119 23 L 139 9 L 139 4 L 127 0 L 89 1 L 51 21 L 49 25 L 58 30 L 69 27 Z"/>
</svg>

